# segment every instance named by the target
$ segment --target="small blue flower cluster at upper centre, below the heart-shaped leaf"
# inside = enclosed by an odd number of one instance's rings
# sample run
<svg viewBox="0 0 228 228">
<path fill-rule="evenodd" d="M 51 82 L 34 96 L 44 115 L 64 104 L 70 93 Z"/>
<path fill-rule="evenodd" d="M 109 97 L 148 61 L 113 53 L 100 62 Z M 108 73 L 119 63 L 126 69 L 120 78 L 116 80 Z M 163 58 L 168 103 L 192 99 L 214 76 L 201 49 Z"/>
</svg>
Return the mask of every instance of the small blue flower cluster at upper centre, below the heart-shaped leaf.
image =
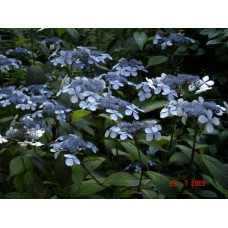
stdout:
<svg viewBox="0 0 228 228">
<path fill-rule="evenodd" d="M 129 77 L 129 76 L 137 76 L 138 71 L 147 72 L 146 68 L 140 64 L 137 60 L 132 59 L 130 61 L 122 58 L 119 62 L 113 67 L 117 74 Z"/>
</svg>

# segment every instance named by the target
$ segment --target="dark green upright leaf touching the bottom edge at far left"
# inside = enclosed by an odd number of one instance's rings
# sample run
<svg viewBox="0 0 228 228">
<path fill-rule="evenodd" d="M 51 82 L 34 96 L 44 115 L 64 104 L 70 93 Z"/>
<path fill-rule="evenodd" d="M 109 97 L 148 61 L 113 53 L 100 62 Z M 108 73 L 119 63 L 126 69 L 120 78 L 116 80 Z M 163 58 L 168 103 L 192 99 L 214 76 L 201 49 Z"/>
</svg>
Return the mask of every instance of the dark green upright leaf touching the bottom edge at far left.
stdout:
<svg viewBox="0 0 228 228">
<path fill-rule="evenodd" d="M 24 186 L 26 192 L 33 198 L 42 198 L 43 194 L 43 183 L 39 176 L 31 171 L 25 173 Z"/>
</svg>

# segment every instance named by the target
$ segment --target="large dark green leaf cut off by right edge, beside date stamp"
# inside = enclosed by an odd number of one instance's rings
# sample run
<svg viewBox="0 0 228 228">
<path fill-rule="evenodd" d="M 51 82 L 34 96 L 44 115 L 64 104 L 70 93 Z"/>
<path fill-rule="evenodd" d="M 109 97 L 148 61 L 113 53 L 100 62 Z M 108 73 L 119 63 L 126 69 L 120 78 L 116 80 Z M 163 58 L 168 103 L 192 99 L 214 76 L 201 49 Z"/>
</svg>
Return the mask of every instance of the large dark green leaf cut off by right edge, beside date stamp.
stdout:
<svg viewBox="0 0 228 228">
<path fill-rule="evenodd" d="M 226 166 L 209 155 L 202 154 L 201 158 L 215 181 L 218 181 L 224 188 L 228 189 L 228 169 Z"/>
</svg>

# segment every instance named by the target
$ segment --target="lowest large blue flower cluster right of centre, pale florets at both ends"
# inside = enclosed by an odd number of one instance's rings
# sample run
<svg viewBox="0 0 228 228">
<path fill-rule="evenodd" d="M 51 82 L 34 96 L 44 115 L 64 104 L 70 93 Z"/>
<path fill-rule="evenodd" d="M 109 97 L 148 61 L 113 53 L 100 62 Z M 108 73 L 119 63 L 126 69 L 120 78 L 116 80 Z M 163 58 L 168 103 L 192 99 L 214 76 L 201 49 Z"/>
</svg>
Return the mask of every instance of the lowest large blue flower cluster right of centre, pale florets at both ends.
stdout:
<svg viewBox="0 0 228 228">
<path fill-rule="evenodd" d="M 112 126 L 106 130 L 105 137 L 110 136 L 116 138 L 120 136 L 121 140 L 127 138 L 133 139 L 137 134 L 144 131 L 146 133 L 146 140 L 151 141 L 154 138 L 156 140 L 161 139 L 161 126 L 157 124 L 156 120 L 150 120 L 145 122 L 133 121 L 133 122 L 121 122 L 117 126 Z"/>
</svg>

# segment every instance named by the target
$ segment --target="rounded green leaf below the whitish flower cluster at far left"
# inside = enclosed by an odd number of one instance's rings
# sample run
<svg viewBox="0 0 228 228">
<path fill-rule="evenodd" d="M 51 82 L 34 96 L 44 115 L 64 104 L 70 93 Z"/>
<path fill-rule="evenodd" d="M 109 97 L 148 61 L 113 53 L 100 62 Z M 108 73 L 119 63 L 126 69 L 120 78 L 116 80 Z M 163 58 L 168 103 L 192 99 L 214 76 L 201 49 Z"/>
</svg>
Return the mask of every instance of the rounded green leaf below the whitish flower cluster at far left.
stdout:
<svg viewBox="0 0 228 228">
<path fill-rule="evenodd" d="M 17 156 L 10 161 L 10 177 L 26 172 L 32 167 L 32 163 L 25 157 Z"/>
</svg>

